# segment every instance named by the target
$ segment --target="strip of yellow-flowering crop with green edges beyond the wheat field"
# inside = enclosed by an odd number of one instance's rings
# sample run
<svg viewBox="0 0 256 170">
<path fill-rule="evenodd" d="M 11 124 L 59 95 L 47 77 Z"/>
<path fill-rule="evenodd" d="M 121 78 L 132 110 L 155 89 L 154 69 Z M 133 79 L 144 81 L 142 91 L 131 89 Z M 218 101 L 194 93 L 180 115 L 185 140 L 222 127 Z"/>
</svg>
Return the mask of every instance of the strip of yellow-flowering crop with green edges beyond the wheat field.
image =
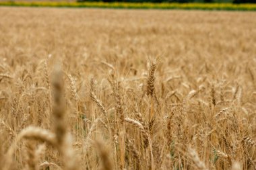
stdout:
<svg viewBox="0 0 256 170">
<path fill-rule="evenodd" d="M 84 1 L 84 2 L 53 2 L 53 1 L 0 1 L 0 6 L 12 7 L 97 7 L 113 9 L 199 9 L 199 10 L 239 10 L 256 11 L 256 3 L 168 3 L 166 1 Z"/>
</svg>

